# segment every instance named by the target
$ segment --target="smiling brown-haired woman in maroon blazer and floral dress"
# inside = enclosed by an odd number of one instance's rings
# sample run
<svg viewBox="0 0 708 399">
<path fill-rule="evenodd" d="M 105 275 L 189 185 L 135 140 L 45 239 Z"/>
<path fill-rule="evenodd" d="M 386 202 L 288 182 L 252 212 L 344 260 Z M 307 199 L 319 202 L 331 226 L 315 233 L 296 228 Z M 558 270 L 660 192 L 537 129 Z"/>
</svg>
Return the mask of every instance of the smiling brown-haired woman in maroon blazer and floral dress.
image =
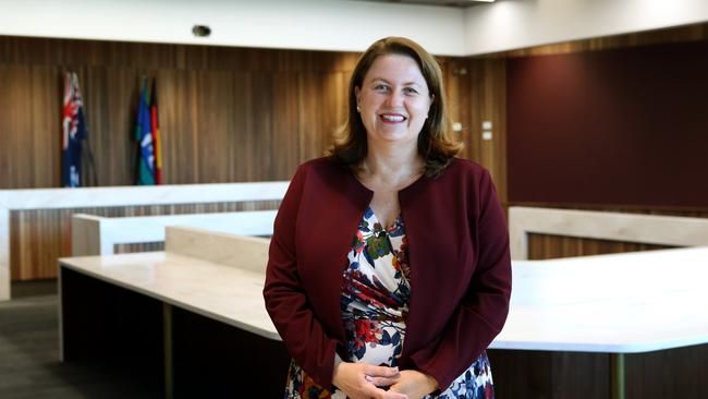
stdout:
<svg viewBox="0 0 708 399">
<path fill-rule="evenodd" d="M 454 157 L 443 93 L 420 46 L 376 41 L 331 155 L 297 169 L 264 289 L 286 398 L 493 397 L 509 237 L 489 173 Z"/>
</svg>

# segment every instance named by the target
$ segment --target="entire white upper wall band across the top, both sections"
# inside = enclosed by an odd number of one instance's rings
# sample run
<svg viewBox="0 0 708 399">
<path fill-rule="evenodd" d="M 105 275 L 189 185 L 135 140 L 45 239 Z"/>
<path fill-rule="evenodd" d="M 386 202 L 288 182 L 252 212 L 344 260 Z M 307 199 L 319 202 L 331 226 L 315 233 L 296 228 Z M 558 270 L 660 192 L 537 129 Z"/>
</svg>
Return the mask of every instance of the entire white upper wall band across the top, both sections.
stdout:
<svg viewBox="0 0 708 399">
<path fill-rule="evenodd" d="M 442 56 L 706 21 L 707 0 L 0 0 L 0 35 L 338 51 L 406 36 Z M 195 37 L 195 24 L 211 36 Z"/>
</svg>

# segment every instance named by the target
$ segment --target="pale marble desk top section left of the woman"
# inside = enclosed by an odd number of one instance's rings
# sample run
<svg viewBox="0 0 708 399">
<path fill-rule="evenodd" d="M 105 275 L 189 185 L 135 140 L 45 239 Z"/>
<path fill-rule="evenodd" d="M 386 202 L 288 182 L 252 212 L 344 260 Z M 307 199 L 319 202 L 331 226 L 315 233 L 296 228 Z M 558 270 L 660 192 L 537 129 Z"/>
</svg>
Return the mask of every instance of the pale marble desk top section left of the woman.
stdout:
<svg viewBox="0 0 708 399">
<path fill-rule="evenodd" d="M 166 252 L 65 257 L 59 263 L 99 280 L 280 340 L 266 312 L 261 273 Z"/>
</svg>

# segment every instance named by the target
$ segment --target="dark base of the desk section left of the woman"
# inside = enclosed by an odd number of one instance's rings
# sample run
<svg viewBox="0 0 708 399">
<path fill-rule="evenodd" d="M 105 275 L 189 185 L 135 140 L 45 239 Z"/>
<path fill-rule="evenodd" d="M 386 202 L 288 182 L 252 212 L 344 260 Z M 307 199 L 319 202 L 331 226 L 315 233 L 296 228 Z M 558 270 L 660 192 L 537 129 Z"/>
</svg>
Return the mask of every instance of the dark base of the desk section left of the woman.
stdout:
<svg viewBox="0 0 708 399">
<path fill-rule="evenodd" d="M 139 368 L 167 398 L 278 398 L 290 355 L 273 341 L 97 280 L 61 273 L 64 361 Z"/>
</svg>

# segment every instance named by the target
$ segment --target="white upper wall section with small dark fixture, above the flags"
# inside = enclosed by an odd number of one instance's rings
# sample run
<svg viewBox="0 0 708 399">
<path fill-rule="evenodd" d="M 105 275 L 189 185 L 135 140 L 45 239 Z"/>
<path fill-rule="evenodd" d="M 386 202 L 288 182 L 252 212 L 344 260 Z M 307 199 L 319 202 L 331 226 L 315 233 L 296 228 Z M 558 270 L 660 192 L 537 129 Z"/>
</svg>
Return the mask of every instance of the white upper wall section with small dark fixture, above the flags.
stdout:
<svg viewBox="0 0 708 399">
<path fill-rule="evenodd" d="M 363 51 L 407 36 L 464 51 L 460 9 L 345 0 L 0 0 L 0 35 Z M 192 35 L 211 27 L 209 38 Z"/>
</svg>

